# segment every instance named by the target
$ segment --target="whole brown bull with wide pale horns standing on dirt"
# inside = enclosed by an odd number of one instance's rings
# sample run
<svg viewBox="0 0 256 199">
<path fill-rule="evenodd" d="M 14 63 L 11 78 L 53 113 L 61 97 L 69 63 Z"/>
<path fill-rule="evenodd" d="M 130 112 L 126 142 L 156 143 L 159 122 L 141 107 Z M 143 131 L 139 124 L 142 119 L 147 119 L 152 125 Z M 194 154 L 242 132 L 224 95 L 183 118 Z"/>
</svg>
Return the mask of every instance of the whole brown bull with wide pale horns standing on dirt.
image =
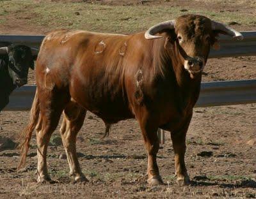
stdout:
<svg viewBox="0 0 256 199">
<path fill-rule="evenodd" d="M 131 35 L 54 31 L 45 36 L 36 62 L 36 96 L 24 131 L 23 166 L 36 128 L 38 182 L 49 181 L 46 154 L 61 113 L 61 138 L 70 175 L 86 181 L 76 155 L 76 135 L 86 111 L 106 124 L 136 118 L 148 152 L 148 183 L 163 183 L 156 155 L 157 129 L 171 131 L 175 173 L 189 182 L 186 133 L 200 92 L 202 70 L 218 33 L 243 36 L 199 15 L 184 15 Z"/>
</svg>

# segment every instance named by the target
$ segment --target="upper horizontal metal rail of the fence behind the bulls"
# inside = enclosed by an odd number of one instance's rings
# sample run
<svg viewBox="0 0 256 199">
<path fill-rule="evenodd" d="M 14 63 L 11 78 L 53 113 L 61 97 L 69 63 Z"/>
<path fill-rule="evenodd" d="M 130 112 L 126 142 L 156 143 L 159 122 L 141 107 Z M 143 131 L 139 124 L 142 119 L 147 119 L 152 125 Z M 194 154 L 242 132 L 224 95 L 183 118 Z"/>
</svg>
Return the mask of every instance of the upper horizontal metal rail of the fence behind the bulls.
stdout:
<svg viewBox="0 0 256 199">
<path fill-rule="evenodd" d="M 221 34 L 219 38 L 220 50 L 211 50 L 209 58 L 256 55 L 256 31 L 241 33 L 244 36 L 242 41 L 236 41 L 230 36 Z M 5 42 L 10 42 L 38 48 L 43 39 L 44 36 L 0 35 L 0 47 L 5 45 Z"/>
</svg>

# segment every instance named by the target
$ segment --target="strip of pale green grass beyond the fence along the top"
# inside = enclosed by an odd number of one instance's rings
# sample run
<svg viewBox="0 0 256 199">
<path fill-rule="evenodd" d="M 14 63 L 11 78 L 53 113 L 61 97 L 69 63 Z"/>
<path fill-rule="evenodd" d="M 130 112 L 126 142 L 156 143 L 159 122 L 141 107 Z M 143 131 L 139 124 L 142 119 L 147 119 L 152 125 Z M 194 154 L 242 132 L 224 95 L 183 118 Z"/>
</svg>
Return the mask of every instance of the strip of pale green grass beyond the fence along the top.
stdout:
<svg viewBox="0 0 256 199">
<path fill-rule="evenodd" d="M 88 3 L 35 2 L 28 0 L 0 1 L 0 17 L 8 15 L 25 17 L 29 24 L 49 29 L 86 29 L 113 33 L 134 33 L 170 20 L 184 13 L 205 15 L 221 22 L 236 21 L 249 25 L 255 21 L 250 13 L 223 12 L 189 9 L 180 11 L 179 6 L 108 6 Z M 75 12 L 79 12 L 76 15 Z M 2 15 L 2 16 L 1 16 Z M 3 20 L 3 19 L 2 19 Z"/>
</svg>

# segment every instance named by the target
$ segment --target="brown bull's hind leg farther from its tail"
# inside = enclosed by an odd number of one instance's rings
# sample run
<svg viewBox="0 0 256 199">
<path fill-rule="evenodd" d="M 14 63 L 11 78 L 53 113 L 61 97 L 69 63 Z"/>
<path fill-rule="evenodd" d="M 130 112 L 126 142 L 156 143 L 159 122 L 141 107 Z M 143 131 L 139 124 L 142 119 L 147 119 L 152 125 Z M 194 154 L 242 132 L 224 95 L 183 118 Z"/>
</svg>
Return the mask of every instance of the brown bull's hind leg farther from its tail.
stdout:
<svg viewBox="0 0 256 199">
<path fill-rule="evenodd" d="M 81 171 L 76 154 L 76 136 L 83 126 L 86 110 L 71 102 L 65 108 L 63 115 L 60 134 L 67 154 L 70 176 L 74 177 L 75 182 L 87 181 Z"/>
</svg>

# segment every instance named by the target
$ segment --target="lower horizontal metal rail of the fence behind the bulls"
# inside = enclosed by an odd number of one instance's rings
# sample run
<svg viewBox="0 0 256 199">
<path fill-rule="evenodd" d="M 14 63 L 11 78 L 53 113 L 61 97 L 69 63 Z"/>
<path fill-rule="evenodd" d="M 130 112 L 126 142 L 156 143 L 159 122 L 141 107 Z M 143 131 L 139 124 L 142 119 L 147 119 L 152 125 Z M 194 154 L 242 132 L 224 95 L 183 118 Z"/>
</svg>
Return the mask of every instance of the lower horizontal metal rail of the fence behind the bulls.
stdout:
<svg viewBox="0 0 256 199">
<path fill-rule="evenodd" d="M 35 95 L 35 85 L 15 89 L 4 110 L 29 110 Z M 207 82 L 201 84 L 196 107 L 256 103 L 256 80 Z"/>
</svg>

